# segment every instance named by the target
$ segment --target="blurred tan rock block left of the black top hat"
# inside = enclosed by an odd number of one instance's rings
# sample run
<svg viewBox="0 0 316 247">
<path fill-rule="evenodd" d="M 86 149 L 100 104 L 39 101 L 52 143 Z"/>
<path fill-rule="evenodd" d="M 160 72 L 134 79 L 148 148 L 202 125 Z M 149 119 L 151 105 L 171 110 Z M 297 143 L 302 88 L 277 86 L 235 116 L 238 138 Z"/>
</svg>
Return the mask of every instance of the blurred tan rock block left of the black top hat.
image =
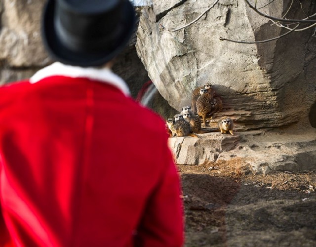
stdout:
<svg viewBox="0 0 316 247">
<path fill-rule="evenodd" d="M 0 61 L 9 67 L 41 67 L 51 62 L 40 38 L 44 0 L 3 0 Z"/>
</svg>

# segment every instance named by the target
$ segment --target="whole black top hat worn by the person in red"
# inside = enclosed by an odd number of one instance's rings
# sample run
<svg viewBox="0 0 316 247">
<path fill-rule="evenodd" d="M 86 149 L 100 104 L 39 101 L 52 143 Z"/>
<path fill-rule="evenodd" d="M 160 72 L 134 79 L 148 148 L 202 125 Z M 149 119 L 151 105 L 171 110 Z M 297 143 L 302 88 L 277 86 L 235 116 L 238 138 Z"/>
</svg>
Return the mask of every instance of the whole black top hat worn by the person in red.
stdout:
<svg viewBox="0 0 316 247">
<path fill-rule="evenodd" d="M 100 66 L 127 45 L 135 19 L 129 0 L 48 0 L 43 14 L 43 41 L 57 61 Z"/>
</svg>

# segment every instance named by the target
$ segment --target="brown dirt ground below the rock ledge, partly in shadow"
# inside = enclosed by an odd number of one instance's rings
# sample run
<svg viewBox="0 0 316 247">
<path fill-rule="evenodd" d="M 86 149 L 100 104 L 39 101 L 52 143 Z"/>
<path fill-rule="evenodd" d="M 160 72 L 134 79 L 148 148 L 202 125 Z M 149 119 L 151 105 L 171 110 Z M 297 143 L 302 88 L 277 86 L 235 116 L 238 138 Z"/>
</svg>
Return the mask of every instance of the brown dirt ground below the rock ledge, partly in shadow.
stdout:
<svg viewBox="0 0 316 247">
<path fill-rule="evenodd" d="M 254 175 L 241 159 L 178 165 L 186 247 L 315 247 L 316 172 Z"/>
</svg>

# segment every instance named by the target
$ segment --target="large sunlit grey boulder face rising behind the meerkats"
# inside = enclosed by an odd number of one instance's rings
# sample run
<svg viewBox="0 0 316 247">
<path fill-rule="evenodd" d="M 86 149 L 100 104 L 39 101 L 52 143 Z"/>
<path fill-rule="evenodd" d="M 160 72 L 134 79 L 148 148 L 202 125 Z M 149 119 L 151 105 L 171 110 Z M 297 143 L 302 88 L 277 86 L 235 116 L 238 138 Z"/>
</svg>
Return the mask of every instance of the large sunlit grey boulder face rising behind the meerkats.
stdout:
<svg viewBox="0 0 316 247">
<path fill-rule="evenodd" d="M 254 2 L 253 0 L 251 1 Z M 316 12 L 315 4 L 258 1 L 260 11 L 288 19 Z M 316 101 L 316 38 L 314 29 L 275 41 L 244 44 L 221 41 L 262 41 L 288 30 L 271 25 L 244 0 L 220 0 L 186 28 L 214 1 L 153 0 L 141 12 L 137 53 L 160 94 L 175 109 L 190 104 L 194 88 L 212 83 L 222 97 L 224 113 L 243 129 L 309 127 Z M 261 8 L 265 6 L 264 8 Z M 288 11 L 289 10 L 289 11 Z M 311 117 L 310 117 L 311 119 Z"/>
</svg>

